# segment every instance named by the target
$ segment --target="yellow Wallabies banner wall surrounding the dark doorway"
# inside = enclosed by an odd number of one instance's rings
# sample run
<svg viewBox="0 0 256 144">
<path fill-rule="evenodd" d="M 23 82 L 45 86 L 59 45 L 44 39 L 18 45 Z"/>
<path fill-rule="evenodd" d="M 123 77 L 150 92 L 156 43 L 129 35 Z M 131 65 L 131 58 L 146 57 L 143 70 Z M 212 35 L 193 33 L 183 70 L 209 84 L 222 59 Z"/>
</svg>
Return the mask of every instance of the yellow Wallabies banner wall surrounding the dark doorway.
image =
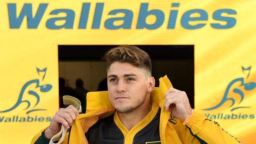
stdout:
<svg viewBox="0 0 256 144">
<path fill-rule="evenodd" d="M 194 44 L 195 108 L 253 143 L 254 7 L 255 0 L 2 0 L 1 143 L 27 144 L 50 124 L 65 44 Z"/>
</svg>

